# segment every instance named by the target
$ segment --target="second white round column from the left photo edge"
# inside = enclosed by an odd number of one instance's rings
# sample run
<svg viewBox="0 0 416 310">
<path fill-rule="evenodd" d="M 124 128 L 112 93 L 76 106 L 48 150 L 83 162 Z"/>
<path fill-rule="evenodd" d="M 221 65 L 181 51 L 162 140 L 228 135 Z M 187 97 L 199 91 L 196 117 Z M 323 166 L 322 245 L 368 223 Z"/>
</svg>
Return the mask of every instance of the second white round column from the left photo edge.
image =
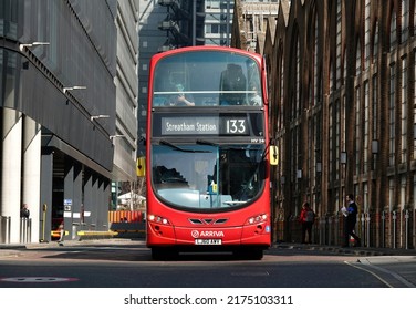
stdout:
<svg viewBox="0 0 416 310">
<path fill-rule="evenodd" d="M 40 175 L 41 175 L 41 126 L 33 120 L 23 118 L 23 195 L 22 204 L 29 205 L 31 239 L 39 241 L 40 227 Z"/>
</svg>

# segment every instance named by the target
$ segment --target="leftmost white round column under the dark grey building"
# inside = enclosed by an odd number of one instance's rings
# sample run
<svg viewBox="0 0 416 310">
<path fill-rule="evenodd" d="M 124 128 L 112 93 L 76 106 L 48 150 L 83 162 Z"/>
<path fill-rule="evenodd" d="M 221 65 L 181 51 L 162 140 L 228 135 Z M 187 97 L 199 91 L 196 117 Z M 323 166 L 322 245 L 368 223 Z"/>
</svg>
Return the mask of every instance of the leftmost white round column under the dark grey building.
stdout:
<svg viewBox="0 0 416 310">
<path fill-rule="evenodd" d="M 22 114 L 11 108 L 2 113 L 0 215 L 10 218 L 10 242 L 15 244 L 20 242 Z"/>
</svg>

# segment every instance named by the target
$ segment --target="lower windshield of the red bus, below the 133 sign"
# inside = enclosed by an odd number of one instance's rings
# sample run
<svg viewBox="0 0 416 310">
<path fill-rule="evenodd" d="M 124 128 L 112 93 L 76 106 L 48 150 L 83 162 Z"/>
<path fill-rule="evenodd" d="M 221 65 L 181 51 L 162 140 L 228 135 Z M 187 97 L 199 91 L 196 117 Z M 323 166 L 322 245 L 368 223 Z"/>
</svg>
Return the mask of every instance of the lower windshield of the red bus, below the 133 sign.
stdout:
<svg viewBox="0 0 416 310">
<path fill-rule="evenodd" d="M 152 185 L 171 207 L 218 210 L 243 207 L 262 192 L 263 145 L 152 146 Z"/>
</svg>

